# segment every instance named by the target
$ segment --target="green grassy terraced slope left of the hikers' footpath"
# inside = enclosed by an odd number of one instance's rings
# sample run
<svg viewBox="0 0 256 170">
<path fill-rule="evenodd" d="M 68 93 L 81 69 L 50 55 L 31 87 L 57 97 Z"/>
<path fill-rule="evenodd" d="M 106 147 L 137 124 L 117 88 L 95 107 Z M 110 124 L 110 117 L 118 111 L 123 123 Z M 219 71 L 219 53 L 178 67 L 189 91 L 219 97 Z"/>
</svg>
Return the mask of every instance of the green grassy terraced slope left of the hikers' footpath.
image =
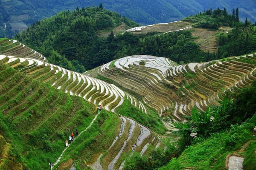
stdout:
<svg viewBox="0 0 256 170">
<path fill-rule="evenodd" d="M 0 134 L 23 169 L 46 169 L 61 154 L 71 131 L 90 124 L 95 106 L 2 62 L 0 72 Z M 8 162 L 1 159 L 0 164 L 9 167 Z"/>
</svg>

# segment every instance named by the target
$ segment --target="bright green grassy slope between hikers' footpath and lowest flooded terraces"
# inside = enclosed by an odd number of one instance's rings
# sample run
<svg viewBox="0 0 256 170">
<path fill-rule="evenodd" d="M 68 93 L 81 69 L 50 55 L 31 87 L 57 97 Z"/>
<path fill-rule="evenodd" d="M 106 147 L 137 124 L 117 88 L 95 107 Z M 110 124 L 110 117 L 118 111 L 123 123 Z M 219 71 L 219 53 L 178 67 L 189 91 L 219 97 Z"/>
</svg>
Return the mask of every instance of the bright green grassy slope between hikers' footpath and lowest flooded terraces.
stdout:
<svg viewBox="0 0 256 170">
<path fill-rule="evenodd" d="M 86 165 L 83 160 L 88 162 L 93 154 L 106 150 L 113 142 L 116 136 L 118 119 L 116 114 L 102 111 L 87 132 L 82 133 L 67 148 L 61 162 L 72 158 L 76 160 L 77 170 L 85 169 Z"/>
</svg>

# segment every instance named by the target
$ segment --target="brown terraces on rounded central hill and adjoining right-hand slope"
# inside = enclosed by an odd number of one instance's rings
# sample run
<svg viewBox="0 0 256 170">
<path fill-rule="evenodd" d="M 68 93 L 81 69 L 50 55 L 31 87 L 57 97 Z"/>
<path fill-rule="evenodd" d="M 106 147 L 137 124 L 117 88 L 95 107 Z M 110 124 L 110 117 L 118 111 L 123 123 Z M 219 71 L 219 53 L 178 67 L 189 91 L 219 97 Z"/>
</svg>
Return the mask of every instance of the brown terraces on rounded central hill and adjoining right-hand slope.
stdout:
<svg viewBox="0 0 256 170">
<path fill-rule="evenodd" d="M 160 115 L 171 113 L 174 119 L 183 120 L 193 107 L 205 111 L 218 105 L 227 89 L 250 85 L 256 79 L 256 55 L 186 65 L 161 57 L 129 56 L 88 73 L 96 74 L 120 84 Z"/>
</svg>

